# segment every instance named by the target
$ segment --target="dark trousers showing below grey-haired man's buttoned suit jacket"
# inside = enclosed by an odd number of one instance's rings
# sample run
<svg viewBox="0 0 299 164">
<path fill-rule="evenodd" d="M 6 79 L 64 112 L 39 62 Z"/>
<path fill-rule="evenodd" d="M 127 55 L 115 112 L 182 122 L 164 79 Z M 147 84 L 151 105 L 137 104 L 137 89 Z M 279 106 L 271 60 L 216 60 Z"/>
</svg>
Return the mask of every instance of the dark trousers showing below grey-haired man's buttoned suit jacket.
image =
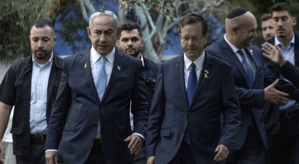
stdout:
<svg viewBox="0 0 299 164">
<path fill-rule="evenodd" d="M 100 140 L 94 140 L 90 154 L 84 164 L 106 164 Z"/>
</svg>

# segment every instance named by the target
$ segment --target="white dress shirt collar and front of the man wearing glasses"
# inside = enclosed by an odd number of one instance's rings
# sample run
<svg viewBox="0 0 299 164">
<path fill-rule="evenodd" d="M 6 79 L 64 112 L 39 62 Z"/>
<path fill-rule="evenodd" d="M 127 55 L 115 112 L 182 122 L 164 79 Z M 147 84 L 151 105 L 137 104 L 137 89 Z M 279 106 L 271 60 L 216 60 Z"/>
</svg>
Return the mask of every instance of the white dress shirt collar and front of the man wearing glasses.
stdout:
<svg viewBox="0 0 299 164">
<path fill-rule="evenodd" d="M 203 62 L 205 59 L 205 52 L 203 51 L 202 54 L 193 62 L 195 64 L 195 72 L 197 76 L 197 81 L 199 80 L 199 75 L 202 70 Z M 184 53 L 184 75 L 185 75 L 185 86 L 187 91 L 187 85 L 188 85 L 188 79 L 189 79 L 189 73 L 191 70 L 191 64 L 192 61 L 186 57 L 186 54 Z M 197 82 L 198 83 L 198 82 Z"/>
</svg>

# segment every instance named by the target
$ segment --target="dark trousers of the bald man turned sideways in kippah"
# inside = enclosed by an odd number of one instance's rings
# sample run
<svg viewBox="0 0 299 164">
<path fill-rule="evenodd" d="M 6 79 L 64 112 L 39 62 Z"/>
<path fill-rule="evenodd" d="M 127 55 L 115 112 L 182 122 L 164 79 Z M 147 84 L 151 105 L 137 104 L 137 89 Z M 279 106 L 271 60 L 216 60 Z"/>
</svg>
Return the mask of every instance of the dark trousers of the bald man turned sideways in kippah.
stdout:
<svg viewBox="0 0 299 164">
<path fill-rule="evenodd" d="M 266 164 L 264 146 L 257 126 L 249 127 L 244 145 L 234 150 L 225 160 L 226 164 Z"/>
</svg>

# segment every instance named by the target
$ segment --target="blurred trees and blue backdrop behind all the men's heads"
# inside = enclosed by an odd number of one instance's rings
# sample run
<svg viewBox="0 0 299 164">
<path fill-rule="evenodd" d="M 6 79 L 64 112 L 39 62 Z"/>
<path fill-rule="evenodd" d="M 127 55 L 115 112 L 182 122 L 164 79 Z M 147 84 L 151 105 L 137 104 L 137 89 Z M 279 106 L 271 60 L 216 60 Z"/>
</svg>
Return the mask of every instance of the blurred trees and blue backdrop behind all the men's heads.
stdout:
<svg viewBox="0 0 299 164">
<path fill-rule="evenodd" d="M 163 56 L 182 53 L 177 23 L 188 13 L 198 13 L 208 20 L 210 39 L 214 42 L 225 33 L 224 20 L 235 7 L 244 7 L 257 18 L 258 37 L 263 42 L 260 17 L 274 3 L 286 0 L 1 0 L 0 1 L 0 61 L 12 62 L 32 54 L 29 42 L 30 24 L 39 17 L 51 19 L 58 36 L 54 50 L 59 55 L 71 55 L 90 46 L 86 34 L 89 16 L 97 11 L 114 11 L 120 24 L 137 21 L 143 29 L 143 54 L 159 63 Z M 298 13 L 298 0 L 287 0 Z M 296 15 L 298 16 L 298 14 Z M 298 24 L 295 31 L 298 33 Z"/>
</svg>

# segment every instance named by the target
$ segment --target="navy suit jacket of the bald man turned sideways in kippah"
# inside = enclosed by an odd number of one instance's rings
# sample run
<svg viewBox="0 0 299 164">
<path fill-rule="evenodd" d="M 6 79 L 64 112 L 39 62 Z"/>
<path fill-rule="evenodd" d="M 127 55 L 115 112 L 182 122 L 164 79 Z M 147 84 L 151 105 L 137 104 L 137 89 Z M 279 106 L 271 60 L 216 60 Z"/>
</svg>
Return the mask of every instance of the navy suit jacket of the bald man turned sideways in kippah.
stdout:
<svg viewBox="0 0 299 164">
<path fill-rule="evenodd" d="M 251 54 L 250 57 L 254 61 L 257 70 L 253 88 L 249 87 L 248 76 L 242 63 L 223 36 L 206 48 L 207 53 L 224 60 L 233 68 L 234 82 L 241 105 L 241 130 L 238 133 L 235 150 L 240 149 L 244 144 L 252 115 L 258 126 L 262 143 L 267 148 L 267 137 L 261 108 L 264 104 L 264 88 L 277 79 L 267 67 L 260 48 L 249 46 L 245 48 L 245 51 L 247 54 Z M 289 98 L 297 99 L 299 96 L 299 90 L 290 83 L 280 81 L 276 88 L 289 93 Z"/>
</svg>

